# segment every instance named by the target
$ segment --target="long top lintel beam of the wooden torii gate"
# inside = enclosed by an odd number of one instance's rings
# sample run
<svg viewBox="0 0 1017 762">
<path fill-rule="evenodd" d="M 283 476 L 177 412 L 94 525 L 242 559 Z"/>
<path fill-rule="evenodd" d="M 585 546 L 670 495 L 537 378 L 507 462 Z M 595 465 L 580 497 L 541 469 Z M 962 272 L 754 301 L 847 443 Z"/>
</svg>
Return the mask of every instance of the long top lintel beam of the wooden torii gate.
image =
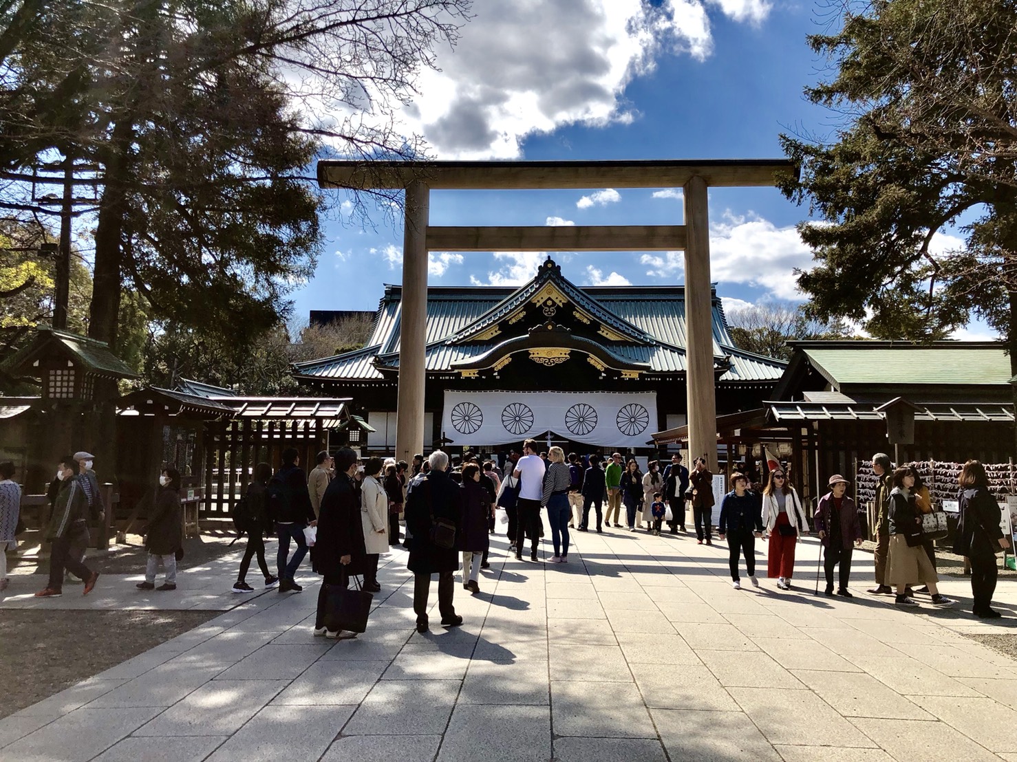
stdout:
<svg viewBox="0 0 1017 762">
<path fill-rule="evenodd" d="M 431 190 L 680 188 L 700 177 L 711 188 L 773 187 L 797 176 L 787 160 L 604 162 L 361 162 L 317 164 L 322 188 L 393 190 L 423 182 Z"/>
</svg>

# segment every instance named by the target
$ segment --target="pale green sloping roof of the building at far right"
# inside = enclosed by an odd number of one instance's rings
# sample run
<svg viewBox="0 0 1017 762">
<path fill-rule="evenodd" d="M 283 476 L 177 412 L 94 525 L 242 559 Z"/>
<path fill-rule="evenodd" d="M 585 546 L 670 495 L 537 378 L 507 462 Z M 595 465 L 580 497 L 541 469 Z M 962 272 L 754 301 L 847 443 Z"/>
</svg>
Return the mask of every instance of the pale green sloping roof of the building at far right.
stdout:
<svg viewBox="0 0 1017 762">
<path fill-rule="evenodd" d="M 835 387 L 868 384 L 998 386 L 1013 372 L 1002 343 L 937 341 L 896 344 L 885 341 L 798 343 L 809 362 Z"/>
</svg>

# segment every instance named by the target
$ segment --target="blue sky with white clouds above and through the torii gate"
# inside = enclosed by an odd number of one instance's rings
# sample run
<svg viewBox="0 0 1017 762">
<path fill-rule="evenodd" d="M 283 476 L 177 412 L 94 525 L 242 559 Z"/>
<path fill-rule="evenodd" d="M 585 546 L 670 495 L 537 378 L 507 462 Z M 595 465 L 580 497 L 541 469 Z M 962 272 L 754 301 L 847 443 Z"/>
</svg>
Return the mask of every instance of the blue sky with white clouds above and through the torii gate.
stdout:
<svg viewBox="0 0 1017 762">
<path fill-rule="evenodd" d="M 805 37 L 828 20 L 780 0 L 478 0 L 440 73 L 424 72 L 401 118 L 437 158 L 781 157 L 780 132 L 829 134 L 836 115 L 802 88 L 828 73 Z M 680 224 L 673 189 L 431 194 L 435 225 Z M 587 200 L 584 200 L 584 197 Z M 793 268 L 811 256 L 794 225 L 806 209 L 776 189 L 710 192 L 713 278 L 729 310 L 800 299 Z M 401 279 L 402 232 L 326 224 L 295 312 L 374 309 Z M 432 253 L 433 285 L 521 283 L 541 253 Z M 580 284 L 682 282 L 680 252 L 559 253 Z M 347 288 L 350 282 L 357 288 Z M 983 328 L 971 326 L 976 337 Z"/>
</svg>

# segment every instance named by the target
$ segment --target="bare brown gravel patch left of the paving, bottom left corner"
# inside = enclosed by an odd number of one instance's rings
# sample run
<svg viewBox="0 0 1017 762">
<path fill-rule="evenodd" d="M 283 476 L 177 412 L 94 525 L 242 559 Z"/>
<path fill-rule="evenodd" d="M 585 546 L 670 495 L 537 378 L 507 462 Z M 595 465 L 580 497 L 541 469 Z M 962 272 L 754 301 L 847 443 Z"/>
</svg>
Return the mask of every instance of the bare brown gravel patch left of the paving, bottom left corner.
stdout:
<svg viewBox="0 0 1017 762">
<path fill-rule="evenodd" d="M 220 614 L 5 609 L 0 616 L 0 717 L 116 666 Z M 111 633 L 116 633 L 115 637 Z"/>
</svg>

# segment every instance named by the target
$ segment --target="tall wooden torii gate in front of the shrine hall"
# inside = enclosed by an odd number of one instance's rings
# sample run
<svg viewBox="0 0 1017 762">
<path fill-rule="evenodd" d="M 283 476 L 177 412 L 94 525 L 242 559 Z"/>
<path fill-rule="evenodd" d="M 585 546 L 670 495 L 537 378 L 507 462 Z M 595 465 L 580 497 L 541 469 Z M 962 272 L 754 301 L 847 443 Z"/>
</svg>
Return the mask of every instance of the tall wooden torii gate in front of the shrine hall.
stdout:
<svg viewBox="0 0 1017 762">
<path fill-rule="evenodd" d="M 322 188 L 406 190 L 403 303 L 399 348 L 396 458 L 409 462 L 424 441 L 424 347 L 429 251 L 685 252 L 685 355 L 689 451 L 717 469 L 717 402 L 710 299 L 707 188 L 772 187 L 796 176 L 787 160 L 603 162 L 322 161 Z M 430 191 L 595 188 L 683 189 L 684 225 L 434 227 Z"/>
</svg>

